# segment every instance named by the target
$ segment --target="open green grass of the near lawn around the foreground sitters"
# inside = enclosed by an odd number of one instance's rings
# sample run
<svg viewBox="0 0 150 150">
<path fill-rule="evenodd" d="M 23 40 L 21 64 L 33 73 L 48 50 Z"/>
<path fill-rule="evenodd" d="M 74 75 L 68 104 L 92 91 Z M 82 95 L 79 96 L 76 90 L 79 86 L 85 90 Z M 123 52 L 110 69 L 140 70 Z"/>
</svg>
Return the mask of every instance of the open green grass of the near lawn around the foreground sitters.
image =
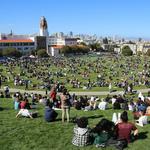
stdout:
<svg viewBox="0 0 150 150">
<path fill-rule="evenodd" d="M 0 150 L 96 150 L 94 145 L 83 148 L 71 144 L 73 136 L 73 123 L 62 123 L 61 112 L 58 111 L 58 120 L 53 123 L 44 121 L 44 107 L 38 106 L 39 117 L 36 119 L 15 118 L 17 111 L 13 110 L 12 99 L 0 99 Z M 92 128 L 103 117 L 112 118 L 114 110 L 106 111 L 79 111 L 71 109 L 71 117 L 86 116 L 89 118 L 89 126 Z M 118 111 L 115 111 L 118 112 Z M 129 120 L 133 117 L 129 112 Z M 143 128 L 138 127 L 140 139 L 129 144 L 129 150 L 149 150 L 150 146 L 150 125 Z M 146 137 L 145 137 L 146 136 Z M 99 148 L 100 149 L 100 148 Z M 113 147 L 106 148 L 113 150 Z"/>
</svg>

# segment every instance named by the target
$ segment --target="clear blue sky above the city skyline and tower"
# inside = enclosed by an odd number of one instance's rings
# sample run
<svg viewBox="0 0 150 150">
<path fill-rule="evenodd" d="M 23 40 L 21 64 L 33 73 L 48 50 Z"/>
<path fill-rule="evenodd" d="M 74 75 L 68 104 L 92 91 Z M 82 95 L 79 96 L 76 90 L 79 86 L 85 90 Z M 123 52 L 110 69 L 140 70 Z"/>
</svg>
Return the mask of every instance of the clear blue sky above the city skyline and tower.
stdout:
<svg viewBox="0 0 150 150">
<path fill-rule="evenodd" d="M 45 16 L 49 33 L 150 38 L 150 0 L 1 0 L 0 32 L 39 32 Z"/>
</svg>

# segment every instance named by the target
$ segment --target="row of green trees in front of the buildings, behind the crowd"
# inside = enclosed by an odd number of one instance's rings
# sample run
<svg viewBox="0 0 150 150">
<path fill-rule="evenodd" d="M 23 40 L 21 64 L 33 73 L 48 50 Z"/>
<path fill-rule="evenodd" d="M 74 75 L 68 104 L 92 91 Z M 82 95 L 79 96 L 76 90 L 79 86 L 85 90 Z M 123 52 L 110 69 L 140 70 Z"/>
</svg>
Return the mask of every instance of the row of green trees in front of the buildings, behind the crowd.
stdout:
<svg viewBox="0 0 150 150">
<path fill-rule="evenodd" d="M 107 52 L 113 52 L 115 45 L 112 45 L 112 46 L 106 45 L 106 48 L 108 48 Z M 102 52 L 105 50 L 104 50 L 104 48 L 101 47 L 101 45 L 99 43 L 94 43 L 94 44 L 89 44 L 89 45 L 86 45 L 85 43 L 80 43 L 80 45 L 63 46 L 59 50 L 60 54 L 64 54 L 64 55 L 67 55 L 67 54 L 87 54 L 90 51 Z M 121 49 L 121 54 L 124 56 L 132 56 L 133 51 L 131 50 L 131 48 L 129 46 L 124 46 Z M 26 53 L 19 51 L 13 47 L 0 50 L 0 57 L 7 56 L 7 57 L 19 58 L 23 55 L 34 55 L 34 56 L 36 55 L 38 57 L 48 57 L 49 56 L 45 49 L 32 50 L 32 51 L 29 51 Z M 150 56 L 150 49 L 148 49 L 145 54 L 142 52 L 138 52 L 137 55 Z"/>
</svg>

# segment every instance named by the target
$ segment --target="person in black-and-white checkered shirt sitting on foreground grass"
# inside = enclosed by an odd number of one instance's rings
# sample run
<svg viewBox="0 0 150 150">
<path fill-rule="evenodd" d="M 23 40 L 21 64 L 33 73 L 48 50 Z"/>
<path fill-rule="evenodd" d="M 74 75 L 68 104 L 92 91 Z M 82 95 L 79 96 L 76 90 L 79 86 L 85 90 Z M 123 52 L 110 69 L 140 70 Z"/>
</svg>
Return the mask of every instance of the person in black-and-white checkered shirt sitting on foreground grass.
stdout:
<svg viewBox="0 0 150 150">
<path fill-rule="evenodd" d="M 77 119 L 77 125 L 74 127 L 74 136 L 72 144 L 75 146 L 86 146 L 90 144 L 90 128 L 88 128 L 88 119 L 81 117 Z"/>
</svg>

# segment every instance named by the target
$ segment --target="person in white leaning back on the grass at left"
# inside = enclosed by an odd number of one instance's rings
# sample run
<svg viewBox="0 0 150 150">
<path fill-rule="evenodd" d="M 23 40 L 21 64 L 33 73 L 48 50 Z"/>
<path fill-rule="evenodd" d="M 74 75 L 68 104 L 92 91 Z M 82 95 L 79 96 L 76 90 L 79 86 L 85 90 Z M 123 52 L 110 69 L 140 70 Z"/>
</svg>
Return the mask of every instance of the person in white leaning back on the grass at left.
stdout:
<svg viewBox="0 0 150 150">
<path fill-rule="evenodd" d="M 31 119 L 36 118 L 37 117 L 38 112 L 30 112 L 28 109 L 20 109 L 20 111 L 18 112 L 18 114 L 16 115 L 16 118 L 19 117 L 20 115 L 23 117 L 29 117 Z"/>
</svg>

